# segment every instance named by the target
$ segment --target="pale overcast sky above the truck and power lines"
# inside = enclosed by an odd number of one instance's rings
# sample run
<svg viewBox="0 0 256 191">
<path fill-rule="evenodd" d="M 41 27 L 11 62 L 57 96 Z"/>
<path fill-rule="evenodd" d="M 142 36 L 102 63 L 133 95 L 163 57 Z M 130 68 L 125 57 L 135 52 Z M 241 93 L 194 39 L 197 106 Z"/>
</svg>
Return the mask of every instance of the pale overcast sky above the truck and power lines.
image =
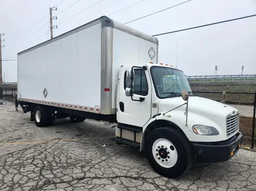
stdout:
<svg viewBox="0 0 256 191">
<path fill-rule="evenodd" d="M 77 2 L 60 13 L 57 16 L 58 20 L 53 20 L 53 25 L 56 25 L 98 1 L 0 0 L 0 33 L 5 33 L 5 36 L 2 36 L 2 40 L 5 39 L 5 42 L 2 42 L 2 46 L 5 45 L 5 48 L 2 48 L 2 58 L 16 56 L 18 52 L 50 38 L 50 35 L 47 38 L 49 30 L 47 14 L 50 7 L 61 2 L 57 5 L 57 11 L 53 11 L 54 16 Z M 53 29 L 53 37 L 140 1 L 102 0 L 97 5 L 58 25 L 58 29 Z M 111 15 L 110 18 L 126 23 L 185 1 L 144 0 Z M 149 35 L 155 35 L 252 14 L 256 14 L 256 0 L 192 0 L 127 25 Z M 46 18 L 31 27 L 46 15 Z M 31 28 L 25 30 L 29 27 Z M 10 34 L 17 32 L 20 33 Z M 27 35 L 30 36 L 22 38 Z M 186 75 L 214 75 L 215 65 L 218 66 L 218 74 L 240 74 L 242 65 L 244 74 L 256 74 L 256 17 L 161 35 L 157 38 L 159 62 L 176 65 L 176 44 L 178 44 L 177 68 L 182 69 Z M 7 70 L 8 82 L 17 82 L 17 61 L 3 62 L 6 82 Z"/>
</svg>

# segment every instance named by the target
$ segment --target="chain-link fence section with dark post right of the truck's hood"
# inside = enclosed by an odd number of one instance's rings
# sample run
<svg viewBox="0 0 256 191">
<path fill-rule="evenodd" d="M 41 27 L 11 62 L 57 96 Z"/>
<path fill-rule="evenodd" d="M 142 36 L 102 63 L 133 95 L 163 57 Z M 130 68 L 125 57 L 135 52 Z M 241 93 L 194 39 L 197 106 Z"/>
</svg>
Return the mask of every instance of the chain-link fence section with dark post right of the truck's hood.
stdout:
<svg viewBox="0 0 256 191">
<path fill-rule="evenodd" d="M 193 94 L 217 102 L 223 101 L 223 92 L 194 91 Z M 226 92 L 225 104 L 239 110 L 239 131 L 243 133 L 243 144 L 246 146 L 251 145 L 253 148 L 254 139 L 256 138 L 254 135 L 256 92 Z"/>
</svg>

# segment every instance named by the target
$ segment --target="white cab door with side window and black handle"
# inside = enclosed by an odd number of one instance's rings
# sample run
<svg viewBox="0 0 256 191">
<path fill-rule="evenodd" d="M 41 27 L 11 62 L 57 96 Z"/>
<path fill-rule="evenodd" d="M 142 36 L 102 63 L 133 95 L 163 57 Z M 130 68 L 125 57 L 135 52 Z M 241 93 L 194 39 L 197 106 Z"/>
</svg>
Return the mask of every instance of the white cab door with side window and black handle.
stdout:
<svg viewBox="0 0 256 191">
<path fill-rule="evenodd" d="M 126 90 L 131 88 L 131 68 L 123 67 L 119 79 L 119 91 L 116 106 L 119 123 L 143 127 L 151 118 L 151 79 L 149 70 L 133 66 L 133 95 Z"/>
</svg>

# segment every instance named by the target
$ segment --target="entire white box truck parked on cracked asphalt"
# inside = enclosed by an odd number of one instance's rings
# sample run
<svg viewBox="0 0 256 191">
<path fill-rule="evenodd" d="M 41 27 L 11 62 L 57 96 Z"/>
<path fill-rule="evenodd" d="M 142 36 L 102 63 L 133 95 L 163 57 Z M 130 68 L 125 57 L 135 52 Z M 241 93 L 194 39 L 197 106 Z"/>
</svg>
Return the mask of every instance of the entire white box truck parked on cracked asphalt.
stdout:
<svg viewBox="0 0 256 191">
<path fill-rule="evenodd" d="M 184 73 L 157 58 L 155 37 L 103 16 L 18 53 L 16 109 L 39 127 L 116 122 L 113 140 L 140 148 L 165 177 L 192 160 L 229 160 L 242 143 L 239 111 L 194 96 Z"/>
</svg>

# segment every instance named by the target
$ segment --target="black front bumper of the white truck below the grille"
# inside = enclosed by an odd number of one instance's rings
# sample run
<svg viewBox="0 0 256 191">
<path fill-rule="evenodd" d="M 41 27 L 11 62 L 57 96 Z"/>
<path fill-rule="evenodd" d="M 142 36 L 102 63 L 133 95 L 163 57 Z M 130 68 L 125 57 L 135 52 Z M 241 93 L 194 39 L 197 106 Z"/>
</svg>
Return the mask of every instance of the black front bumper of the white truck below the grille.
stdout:
<svg viewBox="0 0 256 191">
<path fill-rule="evenodd" d="M 242 139 L 243 134 L 237 132 L 234 136 L 224 141 L 193 142 L 195 160 L 198 162 L 224 162 L 229 160 L 240 149 Z"/>
</svg>

